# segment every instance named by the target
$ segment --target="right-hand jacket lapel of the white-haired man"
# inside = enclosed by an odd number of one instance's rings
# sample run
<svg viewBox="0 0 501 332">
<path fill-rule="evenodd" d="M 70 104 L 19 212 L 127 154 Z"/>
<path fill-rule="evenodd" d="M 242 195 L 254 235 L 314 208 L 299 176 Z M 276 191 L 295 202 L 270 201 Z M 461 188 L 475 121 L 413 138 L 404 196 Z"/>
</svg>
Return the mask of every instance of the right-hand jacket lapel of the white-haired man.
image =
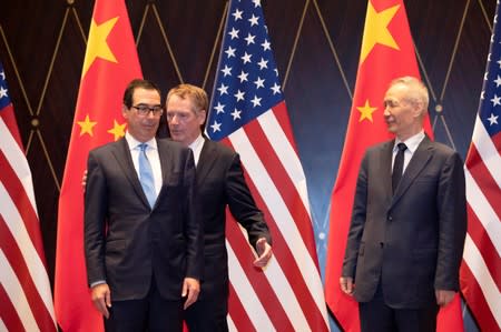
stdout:
<svg viewBox="0 0 501 332">
<path fill-rule="evenodd" d="M 432 155 L 433 145 L 431 144 L 430 139 L 425 137 L 418 147 L 418 150 L 415 150 L 414 154 L 412 155 L 412 159 L 402 175 L 402 180 L 400 180 L 396 192 L 393 195 L 392 205 L 395 204 L 399 199 L 405 193 L 412 182 L 414 182 L 415 178 L 418 178 L 418 175 L 428 164 Z"/>
</svg>

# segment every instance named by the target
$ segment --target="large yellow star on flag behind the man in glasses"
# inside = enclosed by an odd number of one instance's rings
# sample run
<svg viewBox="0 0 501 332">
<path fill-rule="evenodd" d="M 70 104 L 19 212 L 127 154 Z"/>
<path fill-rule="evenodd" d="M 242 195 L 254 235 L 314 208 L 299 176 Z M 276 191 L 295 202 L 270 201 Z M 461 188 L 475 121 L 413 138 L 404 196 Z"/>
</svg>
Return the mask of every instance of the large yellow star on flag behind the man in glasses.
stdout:
<svg viewBox="0 0 501 332">
<path fill-rule="evenodd" d="M 106 39 L 117 23 L 118 17 L 109 19 L 108 21 L 97 24 L 92 19 L 90 22 L 89 41 L 87 42 L 87 52 L 84 60 L 82 77 L 87 73 L 90 66 L 97 58 L 117 62 L 115 54 L 111 52 Z"/>
</svg>

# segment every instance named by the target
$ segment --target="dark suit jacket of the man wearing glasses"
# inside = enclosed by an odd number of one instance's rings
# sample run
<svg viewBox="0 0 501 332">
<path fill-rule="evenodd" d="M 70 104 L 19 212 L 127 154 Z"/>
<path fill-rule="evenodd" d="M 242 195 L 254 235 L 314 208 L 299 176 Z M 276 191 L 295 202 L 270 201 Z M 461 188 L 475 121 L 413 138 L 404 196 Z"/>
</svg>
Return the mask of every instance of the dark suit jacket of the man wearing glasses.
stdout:
<svg viewBox="0 0 501 332">
<path fill-rule="evenodd" d="M 89 284 L 106 280 L 111 299 L 146 296 L 155 275 L 165 299 L 179 300 L 185 276 L 203 274 L 193 153 L 157 140 L 163 185 L 151 209 L 125 139 L 89 152 L 85 253 Z"/>
</svg>

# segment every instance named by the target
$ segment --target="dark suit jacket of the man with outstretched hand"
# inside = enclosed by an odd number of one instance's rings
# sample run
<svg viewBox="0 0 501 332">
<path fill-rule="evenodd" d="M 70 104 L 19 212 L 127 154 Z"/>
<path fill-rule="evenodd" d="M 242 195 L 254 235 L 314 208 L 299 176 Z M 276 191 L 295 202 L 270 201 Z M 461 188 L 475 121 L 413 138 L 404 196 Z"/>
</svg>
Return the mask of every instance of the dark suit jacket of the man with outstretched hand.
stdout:
<svg viewBox="0 0 501 332">
<path fill-rule="evenodd" d="M 228 147 L 205 140 L 197 163 L 197 190 L 204 224 L 204 278 L 200 300 L 226 301 L 228 256 L 226 252 L 226 207 L 248 233 L 255 248 L 259 238 L 272 243 L 263 213 L 256 208 L 245 182 L 240 159 Z"/>
</svg>

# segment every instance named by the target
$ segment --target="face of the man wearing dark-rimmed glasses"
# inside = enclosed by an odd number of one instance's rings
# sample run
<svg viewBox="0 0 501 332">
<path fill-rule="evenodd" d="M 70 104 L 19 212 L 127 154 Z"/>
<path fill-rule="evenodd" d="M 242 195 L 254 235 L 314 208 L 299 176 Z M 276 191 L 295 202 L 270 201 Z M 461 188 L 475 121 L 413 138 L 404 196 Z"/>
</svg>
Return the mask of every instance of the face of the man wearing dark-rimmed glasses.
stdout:
<svg viewBox="0 0 501 332">
<path fill-rule="evenodd" d="M 132 93 L 132 105 L 122 105 L 122 114 L 127 120 L 128 132 L 139 142 L 151 140 L 158 129 L 160 114 L 148 112 L 145 115 L 138 113 L 135 107 L 146 105 L 149 108 L 161 107 L 160 94 L 155 89 L 136 88 Z"/>
</svg>

